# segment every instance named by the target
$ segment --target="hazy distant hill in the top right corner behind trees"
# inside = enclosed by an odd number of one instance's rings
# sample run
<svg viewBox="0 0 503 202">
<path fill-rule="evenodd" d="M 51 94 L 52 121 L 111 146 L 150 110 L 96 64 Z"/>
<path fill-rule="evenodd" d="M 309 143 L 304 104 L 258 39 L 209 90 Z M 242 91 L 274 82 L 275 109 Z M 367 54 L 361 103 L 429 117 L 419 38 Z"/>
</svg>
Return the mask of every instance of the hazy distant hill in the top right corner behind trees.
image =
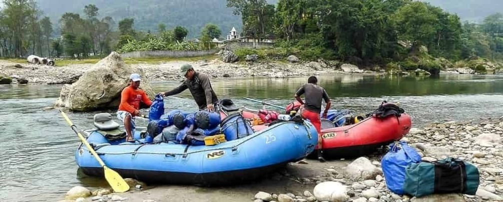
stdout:
<svg viewBox="0 0 503 202">
<path fill-rule="evenodd" d="M 485 17 L 503 12 L 503 0 L 422 0 L 457 14 L 462 21 L 480 23 Z"/>
</svg>

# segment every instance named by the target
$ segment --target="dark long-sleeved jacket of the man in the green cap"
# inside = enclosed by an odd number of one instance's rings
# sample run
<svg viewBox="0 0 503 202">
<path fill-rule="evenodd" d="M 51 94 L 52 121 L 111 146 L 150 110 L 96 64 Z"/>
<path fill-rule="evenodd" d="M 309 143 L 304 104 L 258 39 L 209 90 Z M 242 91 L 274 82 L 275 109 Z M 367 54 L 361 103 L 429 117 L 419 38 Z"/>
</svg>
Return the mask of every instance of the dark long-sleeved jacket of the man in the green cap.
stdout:
<svg viewBox="0 0 503 202">
<path fill-rule="evenodd" d="M 210 79 L 206 76 L 206 74 L 200 72 L 196 72 L 192 80 L 186 79 L 184 83 L 177 88 L 166 92 L 165 96 L 176 95 L 186 89 L 189 89 L 191 92 L 199 109 L 204 109 L 206 108 L 206 105 L 218 102 L 217 95 L 211 87 Z"/>
</svg>

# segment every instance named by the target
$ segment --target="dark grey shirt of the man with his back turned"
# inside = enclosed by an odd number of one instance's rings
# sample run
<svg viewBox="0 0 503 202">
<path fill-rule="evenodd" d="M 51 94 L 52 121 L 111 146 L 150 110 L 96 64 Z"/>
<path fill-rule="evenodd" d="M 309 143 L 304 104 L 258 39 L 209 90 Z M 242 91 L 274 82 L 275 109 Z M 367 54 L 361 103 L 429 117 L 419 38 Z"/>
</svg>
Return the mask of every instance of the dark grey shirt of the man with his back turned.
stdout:
<svg viewBox="0 0 503 202">
<path fill-rule="evenodd" d="M 309 110 L 313 111 L 316 113 L 321 113 L 321 99 L 325 100 L 325 103 L 327 103 L 330 99 L 328 98 L 328 94 L 326 93 L 325 89 L 323 89 L 321 86 L 314 85 L 314 84 L 304 84 L 302 87 L 299 88 L 297 93 L 295 95 L 301 96 L 302 94 L 305 95 L 305 105 L 304 107 Z"/>
</svg>

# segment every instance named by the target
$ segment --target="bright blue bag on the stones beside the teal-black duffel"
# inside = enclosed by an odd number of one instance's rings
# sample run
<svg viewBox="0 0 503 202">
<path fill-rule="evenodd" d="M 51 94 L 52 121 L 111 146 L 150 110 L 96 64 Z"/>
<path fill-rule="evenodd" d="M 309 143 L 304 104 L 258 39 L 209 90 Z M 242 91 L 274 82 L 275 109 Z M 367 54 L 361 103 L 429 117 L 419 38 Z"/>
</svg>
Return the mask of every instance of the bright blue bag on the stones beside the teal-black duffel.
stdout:
<svg viewBox="0 0 503 202">
<path fill-rule="evenodd" d="M 405 168 L 417 162 L 421 162 L 421 156 L 406 142 L 390 144 L 389 152 L 381 160 L 382 172 L 388 189 L 396 194 L 404 194 Z"/>
</svg>

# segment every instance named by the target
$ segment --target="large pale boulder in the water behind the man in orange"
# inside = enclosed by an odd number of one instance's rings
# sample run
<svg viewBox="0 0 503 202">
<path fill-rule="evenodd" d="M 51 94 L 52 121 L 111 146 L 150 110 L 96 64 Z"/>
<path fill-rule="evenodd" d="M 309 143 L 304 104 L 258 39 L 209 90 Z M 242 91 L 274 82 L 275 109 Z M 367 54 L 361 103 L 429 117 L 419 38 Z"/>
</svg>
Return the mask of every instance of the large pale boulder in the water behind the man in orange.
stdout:
<svg viewBox="0 0 503 202">
<path fill-rule="evenodd" d="M 141 76 L 140 88 L 153 99 L 152 86 L 143 70 L 126 65 L 118 53 L 112 52 L 82 74 L 75 83 L 65 84 L 55 106 L 73 111 L 117 109 L 122 89 L 129 85 L 132 73 Z"/>
</svg>

